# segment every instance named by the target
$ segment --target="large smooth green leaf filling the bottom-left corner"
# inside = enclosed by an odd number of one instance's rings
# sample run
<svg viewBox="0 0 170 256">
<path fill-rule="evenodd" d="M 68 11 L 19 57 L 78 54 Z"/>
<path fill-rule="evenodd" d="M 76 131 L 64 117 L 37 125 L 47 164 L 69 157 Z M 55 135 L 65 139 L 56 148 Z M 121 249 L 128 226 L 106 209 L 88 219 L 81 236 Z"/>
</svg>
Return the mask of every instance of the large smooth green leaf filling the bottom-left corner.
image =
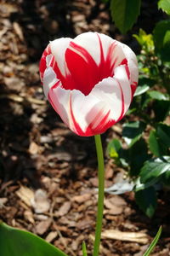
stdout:
<svg viewBox="0 0 170 256">
<path fill-rule="evenodd" d="M 66 256 L 42 238 L 0 223 L 1 256 Z"/>
</svg>

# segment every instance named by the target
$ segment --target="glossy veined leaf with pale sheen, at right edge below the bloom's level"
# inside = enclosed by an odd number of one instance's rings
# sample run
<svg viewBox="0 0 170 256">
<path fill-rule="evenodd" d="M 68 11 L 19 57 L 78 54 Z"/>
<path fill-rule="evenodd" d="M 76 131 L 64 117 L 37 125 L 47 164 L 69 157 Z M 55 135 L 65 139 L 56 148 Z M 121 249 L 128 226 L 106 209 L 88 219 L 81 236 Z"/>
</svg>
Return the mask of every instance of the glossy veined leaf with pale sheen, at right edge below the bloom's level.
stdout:
<svg viewBox="0 0 170 256">
<path fill-rule="evenodd" d="M 168 157 L 157 158 L 146 161 L 139 174 L 141 183 L 148 183 L 161 177 L 164 172 L 170 170 Z"/>
</svg>

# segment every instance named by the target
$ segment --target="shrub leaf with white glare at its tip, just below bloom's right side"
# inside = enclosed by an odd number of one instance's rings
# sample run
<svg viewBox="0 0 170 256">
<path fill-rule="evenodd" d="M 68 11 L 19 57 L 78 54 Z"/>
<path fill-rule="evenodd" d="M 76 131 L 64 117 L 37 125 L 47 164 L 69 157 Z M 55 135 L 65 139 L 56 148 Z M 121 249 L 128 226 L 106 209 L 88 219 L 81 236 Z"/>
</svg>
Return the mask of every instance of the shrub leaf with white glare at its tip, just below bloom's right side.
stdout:
<svg viewBox="0 0 170 256">
<path fill-rule="evenodd" d="M 128 147 L 132 147 L 139 140 L 145 127 L 146 124 L 142 121 L 129 122 L 123 125 L 122 137 Z"/>
</svg>

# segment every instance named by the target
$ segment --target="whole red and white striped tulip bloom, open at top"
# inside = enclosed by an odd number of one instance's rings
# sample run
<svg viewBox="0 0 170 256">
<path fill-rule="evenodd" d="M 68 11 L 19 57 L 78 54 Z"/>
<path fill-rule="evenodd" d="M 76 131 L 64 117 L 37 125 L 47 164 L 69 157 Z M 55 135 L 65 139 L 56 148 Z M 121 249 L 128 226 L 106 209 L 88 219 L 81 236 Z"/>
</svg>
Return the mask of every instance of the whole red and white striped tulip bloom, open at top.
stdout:
<svg viewBox="0 0 170 256">
<path fill-rule="evenodd" d="M 40 61 L 43 90 L 54 110 L 79 136 L 105 132 L 122 119 L 138 83 L 136 55 L 97 32 L 48 44 Z"/>
</svg>

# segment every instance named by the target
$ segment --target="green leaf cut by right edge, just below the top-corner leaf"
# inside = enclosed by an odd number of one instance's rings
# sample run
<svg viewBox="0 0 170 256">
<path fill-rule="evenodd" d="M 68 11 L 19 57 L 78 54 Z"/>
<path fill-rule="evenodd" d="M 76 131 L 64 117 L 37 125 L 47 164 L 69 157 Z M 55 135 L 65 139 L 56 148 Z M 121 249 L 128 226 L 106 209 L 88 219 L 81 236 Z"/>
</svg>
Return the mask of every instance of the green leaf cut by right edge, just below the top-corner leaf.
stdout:
<svg viewBox="0 0 170 256">
<path fill-rule="evenodd" d="M 154 29 L 156 52 L 163 61 L 170 61 L 170 20 L 161 20 Z"/>
</svg>

